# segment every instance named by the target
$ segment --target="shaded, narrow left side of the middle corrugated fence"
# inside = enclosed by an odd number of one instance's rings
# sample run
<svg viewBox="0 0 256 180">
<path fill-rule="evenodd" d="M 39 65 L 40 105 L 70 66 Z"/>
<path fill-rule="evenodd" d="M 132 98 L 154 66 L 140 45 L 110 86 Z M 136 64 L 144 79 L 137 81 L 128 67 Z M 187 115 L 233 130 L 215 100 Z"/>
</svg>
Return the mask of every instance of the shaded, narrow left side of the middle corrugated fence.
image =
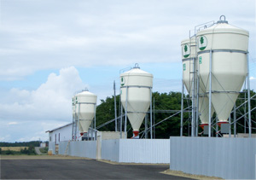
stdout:
<svg viewBox="0 0 256 180">
<path fill-rule="evenodd" d="M 102 160 L 119 162 L 119 139 L 102 140 Z"/>
</svg>

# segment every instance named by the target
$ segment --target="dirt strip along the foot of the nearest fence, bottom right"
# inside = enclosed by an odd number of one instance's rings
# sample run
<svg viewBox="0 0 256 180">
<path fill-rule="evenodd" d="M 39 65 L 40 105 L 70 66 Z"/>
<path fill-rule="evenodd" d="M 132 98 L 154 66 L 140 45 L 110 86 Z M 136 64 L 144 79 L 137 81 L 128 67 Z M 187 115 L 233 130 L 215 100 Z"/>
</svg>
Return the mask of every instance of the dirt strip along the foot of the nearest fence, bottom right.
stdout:
<svg viewBox="0 0 256 180">
<path fill-rule="evenodd" d="M 192 178 L 192 179 L 201 179 L 201 180 L 223 179 L 221 177 L 207 177 L 207 176 L 203 176 L 203 175 L 188 174 L 188 173 L 184 173 L 183 171 L 166 170 L 166 171 L 162 171 L 160 173 L 169 174 L 169 175 L 173 175 L 173 176 L 177 176 L 177 177 L 188 177 L 188 178 Z"/>
</svg>

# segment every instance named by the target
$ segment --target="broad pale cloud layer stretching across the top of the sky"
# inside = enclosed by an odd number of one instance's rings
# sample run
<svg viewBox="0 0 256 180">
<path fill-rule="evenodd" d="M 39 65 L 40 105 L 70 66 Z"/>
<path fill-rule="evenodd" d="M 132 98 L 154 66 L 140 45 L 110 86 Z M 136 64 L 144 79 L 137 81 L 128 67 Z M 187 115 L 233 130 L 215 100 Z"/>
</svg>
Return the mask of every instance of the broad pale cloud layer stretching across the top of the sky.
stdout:
<svg viewBox="0 0 256 180">
<path fill-rule="evenodd" d="M 223 12 L 231 24 L 250 31 L 255 55 L 253 0 L 196 2 L 197 9 L 191 9 L 194 2 L 168 0 L 3 1 L 0 80 L 49 68 L 180 61 L 180 41 L 189 29 Z"/>
</svg>

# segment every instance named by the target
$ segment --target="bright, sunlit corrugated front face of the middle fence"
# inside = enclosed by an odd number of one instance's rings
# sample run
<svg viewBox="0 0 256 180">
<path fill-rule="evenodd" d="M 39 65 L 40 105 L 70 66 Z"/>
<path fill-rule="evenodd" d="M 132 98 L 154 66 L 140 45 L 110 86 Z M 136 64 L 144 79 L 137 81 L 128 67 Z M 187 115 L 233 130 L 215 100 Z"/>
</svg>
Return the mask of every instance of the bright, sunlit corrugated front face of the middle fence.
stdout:
<svg viewBox="0 0 256 180">
<path fill-rule="evenodd" d="M 170 163 L 169 139 L 120 139 L 119 162 Z"/>
</svg>

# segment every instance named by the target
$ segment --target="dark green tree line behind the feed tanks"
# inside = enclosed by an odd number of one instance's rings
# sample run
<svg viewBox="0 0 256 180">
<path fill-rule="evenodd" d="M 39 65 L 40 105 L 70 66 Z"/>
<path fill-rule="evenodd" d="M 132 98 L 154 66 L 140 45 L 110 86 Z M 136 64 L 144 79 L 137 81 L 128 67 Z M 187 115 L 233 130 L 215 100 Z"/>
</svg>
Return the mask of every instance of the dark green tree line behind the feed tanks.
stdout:
<svg viewBox="0 0 256 180">
<path fill-rule="evenodd" d="M 255 95 L 255 92 L 251 90 L 251 96 Z M 238 96 L 238 99 L 236 101 L 236 107 L 240 106 L 242 102 L 244 102 L 244 98 L 247 96 L 247 90 L 244 90 L 244 93 L 241 93 Z M 189 101 L 189 96 L 184 96 L 184 102 L 183 106 L 184 108 L 191 106 L 191 101 Z M 181 101 L 182 101 L 182 93 L 180 92 L 169 92 L 169 93 L 159 93 L 159 92 L 153 92 L 152 95 L 153 99 L 153 107 L 154 107 L 154 124 L 157 124 L 163 119 L 166 119 L 167 117 L 171 116 L 172 114 L 176 113 L 176 111 L 179 111 L 181 109 Z M 96 126 L 102 125 L 103 123 L 108 122 L 110 119 L 114 119 L 114 97 L 107 97 L 106 100 L 101 100 L 101 104 L 97 106 L 96 108 Z M 120 115 L 120 102 L 119 102 L 119 96 L 116 96 L 116 102 L 117 102 L 117 113 L 118 116 Z M 246 105 L 247 106 L 247 105 Z M 251 108 L 256 107 L 256 101 L 255 99 L 251 101 Z M 239 119 L 241 115 L 247 111 L 247 107 L 241 106 L 236 111 L 236 119 Z M 159 110 L 174 110 L 173 112 L 163 112 Z M 163 123 L 160 123 L 160 125 L 156 125 L 154 127 L 154 136 L 155 138 L 169 138 L 170 136 L 180 136 L 180 113 L 173 116 L 171 119 L 167 119 Z M 183 114 L 183 136 L 189 136 L 190 134 L 190 121 L 189 117 L 191 114 L 184 113 Z M 216 114 L 213 114 L 213 119 L 216 117 Z M 233 119 L 233 114 L 231 114 L 231 119 Z M 256 119 L 256 110 L 252 112 L 252 126 L 253 130 L 252 132 L 255 133 L 255 122 Z M 236 132 L 237 133 L 243 133 L 244 132 L 244 118 L 241 118 L 237 121 L 236 124 Z M 123 122 L 124 125 L 124 122 Z M 149 127 L 149 125 L 148 125 Z M 233 126 L 232 132 L 233 132 Z M 100 128 L 99 131 L 114 131 L 115 125 L 114 121 L 108 125 L 105 125 L 104 127 Z M 145 130 L 145 121 L 143 121 L 143 125 L 141 125 L 140 131 Z M 124 131 L 124 128 L 123 128 Z M 128 137 L 132 136 L 132 128 L 130 123 L 127 123 L 127 135 Z M 199 132 L 203 131 L 201 127 L 199 127 Z M 248 128 L 246 127 L 246 131 L 248 132 Z M 215 131 L 214 131 L 215 132 Z"/>
</svg>

